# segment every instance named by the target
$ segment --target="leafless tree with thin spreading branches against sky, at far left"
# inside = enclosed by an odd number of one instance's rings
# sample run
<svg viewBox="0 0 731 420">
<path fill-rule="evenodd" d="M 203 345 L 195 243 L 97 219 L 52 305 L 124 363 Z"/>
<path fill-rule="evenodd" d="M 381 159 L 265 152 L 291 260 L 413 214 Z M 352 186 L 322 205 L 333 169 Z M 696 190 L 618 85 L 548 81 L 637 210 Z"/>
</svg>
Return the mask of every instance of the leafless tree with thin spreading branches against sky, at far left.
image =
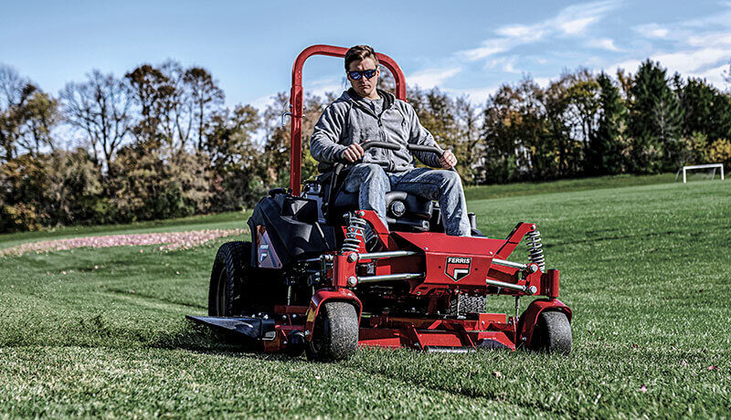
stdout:
<svg viewBox="0 0 731 420">
<path fill-rule="evenodd" d="M 109 172 L 111 158 L 132 126 L 129 89 L 113 75 L 92 70 L 85 82 L 67 84 L 60 97 L 66 121 L 83 133 L 90 142 L 94 162 Z"/>
</svg>

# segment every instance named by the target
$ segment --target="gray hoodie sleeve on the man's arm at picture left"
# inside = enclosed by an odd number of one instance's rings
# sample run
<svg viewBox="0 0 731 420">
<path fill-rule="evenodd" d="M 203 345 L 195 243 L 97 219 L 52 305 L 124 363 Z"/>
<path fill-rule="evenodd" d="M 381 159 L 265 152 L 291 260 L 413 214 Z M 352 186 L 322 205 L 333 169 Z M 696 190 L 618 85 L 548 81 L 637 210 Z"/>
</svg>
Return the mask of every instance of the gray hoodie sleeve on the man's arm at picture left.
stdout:
<svg viewBox="0 0 731 420">
<path fill-rule="evenodd" d="M 339 144 L 345 126 L 345 112 L 331 104 L 314 126 L 310 139 L 310 153 L 319 162 L 336 163 L 340 161 L 347 146 Z"/>
</svg>

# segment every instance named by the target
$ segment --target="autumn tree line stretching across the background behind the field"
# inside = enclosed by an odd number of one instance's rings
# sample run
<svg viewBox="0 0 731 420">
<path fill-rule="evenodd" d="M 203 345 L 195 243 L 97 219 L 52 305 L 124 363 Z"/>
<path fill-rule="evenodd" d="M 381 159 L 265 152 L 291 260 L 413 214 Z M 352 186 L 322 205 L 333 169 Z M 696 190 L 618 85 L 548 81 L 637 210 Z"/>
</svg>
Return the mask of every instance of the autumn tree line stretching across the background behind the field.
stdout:
<svg viewBox="0 0 731 420">
<path fill-rule="evenodd" d="M 305 97 L 303 179 L 316 174 L 306 140 L 337 95 Z M 526 77 L 480 106 L 440 89 L 410 87 L 408 100 L 466 184 L 731 163 L 728 92 L 651 60 L 634 75 L 579 68 L 546 88 Z M 93 70 L 58 96 L 0 65 L 0 232 L 254 205 L 289 184 L 288 104 L 281 92 L 264 110 L 229 108 L 206 68 L 175 61 Z"/>
</svg>

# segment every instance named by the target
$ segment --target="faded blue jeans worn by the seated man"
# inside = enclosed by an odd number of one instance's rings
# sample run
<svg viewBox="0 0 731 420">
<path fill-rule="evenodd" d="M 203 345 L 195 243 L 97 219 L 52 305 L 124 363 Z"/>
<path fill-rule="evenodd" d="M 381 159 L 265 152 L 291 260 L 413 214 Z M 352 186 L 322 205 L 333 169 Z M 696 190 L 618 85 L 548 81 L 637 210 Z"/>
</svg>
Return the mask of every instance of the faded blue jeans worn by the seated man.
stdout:
<svg viewBox="0 0 731 420">
<path fill-rule="evenodd" d="M 360 208 L 376 211 L 384 225 L 387 225 L 386 193 L 391 190 L 437 200 L 445 233 L 451 236 L 471 236 L 467 203 L 459 173 L 429 168 L 387 173 L 377 164 L 358 163 L 345 177 L 344 189 L 348 193 L 358 193 Z"/>
</svg>

